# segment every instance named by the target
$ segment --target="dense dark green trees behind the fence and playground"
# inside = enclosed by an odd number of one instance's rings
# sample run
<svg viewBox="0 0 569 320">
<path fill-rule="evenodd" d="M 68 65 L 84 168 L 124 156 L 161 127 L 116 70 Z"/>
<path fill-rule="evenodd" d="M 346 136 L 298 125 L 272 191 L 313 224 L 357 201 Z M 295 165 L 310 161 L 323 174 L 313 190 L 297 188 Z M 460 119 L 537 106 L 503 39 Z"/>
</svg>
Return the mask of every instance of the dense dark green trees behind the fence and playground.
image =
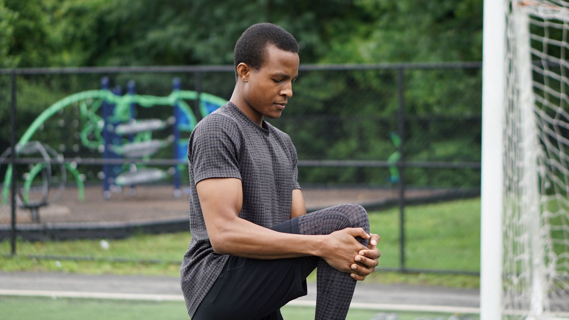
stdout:
<svg viewBox="0 0 569 320">
<path fill-rule="evenodd" d="M 279 24 L 295 35 L 301 63 L 481 60 L 477 0 L 0 0 L 0 68 L 232 64 L 236 40 L 258 22 Z M 291 108 L 272 122 L 290 133 L 303 159 L 386 159 L 394 151 L 389 133 L 397 128 L 397 76 L 397 71 L 301 72 Z M 191 88 L 193 75 L 182 77 Z M 135 79 L 138 92 L 164 95 L 171 78 L 116 75 L 112 82 Z M 2 150 L 9 140 L 8 84 L 0 77 Z M 201 79 L 202 89 L 226 98 L 233 84 L 229 73 Z M 476 161 L 479 124 L 464 116 L 479 115 L 480 84 L 480 71 L 473 69 L 405 72 L 407 159 Z M 18 77 L 19 131 L 61 97 L 98 85 L 98 76 Z M 155 116 L 164 116 L 160 112 Z M 52 131 L 52 141 L 59 141 Z M 382 183 L 386 173 L 301 174 L 311 181 L 358 177 Z M 425 177 L 411 175 L 439 179 Z"/>
</svg>

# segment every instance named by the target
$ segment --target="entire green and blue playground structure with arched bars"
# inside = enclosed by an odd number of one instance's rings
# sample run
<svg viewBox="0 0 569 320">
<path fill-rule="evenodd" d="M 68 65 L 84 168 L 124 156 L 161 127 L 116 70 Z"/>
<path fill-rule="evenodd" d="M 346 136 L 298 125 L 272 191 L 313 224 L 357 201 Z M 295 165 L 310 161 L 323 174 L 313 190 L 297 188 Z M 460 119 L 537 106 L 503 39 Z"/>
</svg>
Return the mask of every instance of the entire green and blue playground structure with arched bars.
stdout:
<svg viewBox="0 0 569 320">
<path fill-rule="evenodd" d="M 109 89 L 109 79 L 103 78 L 101 90 L 90 90 L 75 93 L 65 97 L 49 108 L 44 110 L 30 125 L 16 145 L 17 157 L 24 157 L 33 153 L 40 153 L 44 162 L 30 166 L 30 172 L 24 173 L 23 189 L 19 190 L 19 204 L 33 211 L 34 220 L 39 221 L 38 209 L 54 202 L 63 193 L 65 187 L 66 170 L 69 170 L 76 178 L 79 190 L 79 199 L 83 200 L 85 175 L 77 171 L 76 163 L 64 163 L 63 155 L 48 146 L 45 142 L 30 141 L 36 137 L 36 132 L 44 128 L 44 123 L 55 114 L 63 112 L 63 109 L 73 107 L 77 110 L 77 118 L 72 120 L 70 128 L 78 128 L 72 136 L 77 140 L 70 148 L 77 152 L 80 145 L 93 152 L 101 153 L 103 159 L 129 158 L 129 159 L 149 159 L 160 150 L 167 146 L 174 145 L 172 148 L 174 159 L 185 159 L 187 148 L 187 137 L 182 137 L 182 133 L 190 133 L 195 127 L 197 120 L 192 108 L 185 100 L 199 100 L 199 112 L 202 117 L 207 116 L 213 110 L 224 105 L 226 100 L 210 95 L 208 93 L 198 93 L 195 91 L 181 90 L 179 79 L 172 82 L 173 91 L 165 97 L 136 95 L 134 92 L 135 83 L 130 81 L 128 92 L 122 95 L 121 88 Z M 166 120 L 161 119 L 137 119 L 137 108 L 151 108 L 154 106 L 171 106 L 172 116 Z M 64 128 L 67 124 L 63 119 L 57 121 L 59 127 Z M 83 124 L 82 128 L 79 126 Z M 171 128 L 172 133 L 165 139 L 152 138 L 152 134 Z M 188 134 L 189 136 L 189 134 Z M 36 140 L 39 138 L 36 137 Z M 59 145 L 59 150 L 63 152 L 66 146 Z M 12 150 L 7 149 L 0 155 L 6 158 Z M 56 196 L 48 199 L 48 190 L 52 187 L 51 165 L 56 159 L 60 164 L 60 174 L 58 192 Z M 142 165 L 104 165 L 98 177 L 103 180 L 103 195 L 105 199 L 110 198 L 112 191 L 122 191 L 123 186 L 130 186 L 131 194 L 135 192 L 135 186 L 142 183 L 152 183 L 168 177 L 173 177 L 174 195 L 180 196 L 180 177 L 179 171 L 182 165 L 171 167 L 168 170 L 145 167 Z M 25 170 L 23 170 L 25 171 Z M 8 165 L 3 181 L 2 203 L 7 203 L 9 186 L 12 174 L 12 167 Z M 42 176 L 42 187 L 32 187 L 34 178 Z M 21 179 L 20 179 L 21 180 Z M 39 199 L 29 201 L 27 195 L 30 191 L 37 191 L 41 196 Z M 47 190 L 47 191 L 46 191 Z M 46 195 L 44 196 L 44 192 Z M 36 192 L 37 193 L 37 192 Z"/>
</svg>

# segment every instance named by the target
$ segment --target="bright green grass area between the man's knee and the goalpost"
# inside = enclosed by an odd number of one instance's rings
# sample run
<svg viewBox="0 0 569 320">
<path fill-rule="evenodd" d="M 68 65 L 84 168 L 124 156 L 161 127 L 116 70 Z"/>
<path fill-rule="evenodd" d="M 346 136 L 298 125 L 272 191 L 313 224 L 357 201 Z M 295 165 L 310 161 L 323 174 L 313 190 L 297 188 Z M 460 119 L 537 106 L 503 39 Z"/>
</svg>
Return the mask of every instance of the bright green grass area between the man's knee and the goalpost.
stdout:
<svg viewBox="0 0 569 320">
<path fill-rule="evenodd" d="M 370 231 L 381 237 L 380 266 L 399 266 L 399 211 L 369 215 Z M 407 268 L 480 269 L 480 199 L 405 209 Z"/>
</svg>

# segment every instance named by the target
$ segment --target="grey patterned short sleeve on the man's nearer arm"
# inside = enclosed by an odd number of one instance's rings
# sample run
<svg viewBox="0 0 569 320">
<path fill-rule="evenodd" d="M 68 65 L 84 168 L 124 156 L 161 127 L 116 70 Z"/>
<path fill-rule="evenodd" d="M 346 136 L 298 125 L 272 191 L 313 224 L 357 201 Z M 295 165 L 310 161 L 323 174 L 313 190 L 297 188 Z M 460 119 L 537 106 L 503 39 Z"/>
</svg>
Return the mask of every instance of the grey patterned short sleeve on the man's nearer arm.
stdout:
<svg viewBox="0 0 569 320">
<path fill-rule="evenodd" d="M 209 178 L 241 179 L 239 171 L 240 134 L 228 117 L 211 114 L 193 130 L 188 143 L 193 183 Z"/>
</svg>

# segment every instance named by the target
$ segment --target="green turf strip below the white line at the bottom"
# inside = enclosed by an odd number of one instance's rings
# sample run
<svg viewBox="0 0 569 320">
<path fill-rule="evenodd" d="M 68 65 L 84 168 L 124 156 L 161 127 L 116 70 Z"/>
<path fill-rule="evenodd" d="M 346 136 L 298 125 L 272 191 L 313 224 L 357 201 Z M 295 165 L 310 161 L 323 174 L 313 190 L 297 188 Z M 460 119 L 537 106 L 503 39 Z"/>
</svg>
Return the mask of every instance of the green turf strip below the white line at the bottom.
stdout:
<svg viewBox="0 0 569 320">
<path fill-rule="evenodd" d="M 0 310 L 5 319 L 188 319 L 184 302 L 0 296 Z M 379 312 L 352 308 L 347 319 L 367 320 Z M 314 307 L 284 306 L 281 313 L 285 319 L 314 319 Z M 400 320 L 413 320 L 419 317 L 446 319 L 450 314 L 397 312 L 397 315 Z M 473 320 L 477 318 L 475 315 Z"/>
</svg>

